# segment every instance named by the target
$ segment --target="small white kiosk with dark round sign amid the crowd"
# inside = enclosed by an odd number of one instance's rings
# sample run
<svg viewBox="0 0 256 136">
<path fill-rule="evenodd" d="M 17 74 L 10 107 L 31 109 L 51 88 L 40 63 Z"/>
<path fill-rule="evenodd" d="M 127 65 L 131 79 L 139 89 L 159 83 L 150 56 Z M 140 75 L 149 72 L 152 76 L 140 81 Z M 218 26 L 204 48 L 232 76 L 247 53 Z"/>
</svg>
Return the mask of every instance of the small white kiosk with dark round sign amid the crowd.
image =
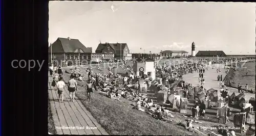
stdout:
<svg viewBox="0 0 256 136">
<path fill-rule="evenodd" d="M 152 59 L 137 58 L 133 65 L 134 75 L 143 76 L 145 74 L 154 80 L 156 78 L 156 65 L 157 63 Z"/>
</svg>

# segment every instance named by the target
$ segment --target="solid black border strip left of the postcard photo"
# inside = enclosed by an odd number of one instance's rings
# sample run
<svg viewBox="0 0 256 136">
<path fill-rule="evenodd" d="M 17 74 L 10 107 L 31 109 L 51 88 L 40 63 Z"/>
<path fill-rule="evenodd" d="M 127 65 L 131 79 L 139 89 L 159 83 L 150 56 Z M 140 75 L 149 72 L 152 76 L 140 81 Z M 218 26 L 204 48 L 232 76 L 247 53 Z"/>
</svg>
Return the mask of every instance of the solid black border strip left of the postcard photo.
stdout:
<svg viewBox="0 0 256 136">
<path fill-rule="evenodd" d="M 1 6 L 2 135 L 48 135 L 48 1 L 2 0 Z M 45 62 L 28 71 L 12 68 L 15 59 Z"/>
</svg>

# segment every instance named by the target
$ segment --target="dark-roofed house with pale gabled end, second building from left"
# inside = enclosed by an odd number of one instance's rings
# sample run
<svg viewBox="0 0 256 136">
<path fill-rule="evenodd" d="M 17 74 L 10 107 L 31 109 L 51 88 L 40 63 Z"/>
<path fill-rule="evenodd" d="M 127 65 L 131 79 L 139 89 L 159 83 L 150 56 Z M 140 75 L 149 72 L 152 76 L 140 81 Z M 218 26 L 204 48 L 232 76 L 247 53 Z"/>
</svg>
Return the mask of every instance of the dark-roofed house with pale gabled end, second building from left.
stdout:
<svg viewBox="0 0 256 136">
<path fill-rule="evenodd" d="M 115 58 L 117 59 L 132 59 L 132 55 L 130 54 L 130 50 L 126 43 L 99 43 L 96 53 L 114 53 Z"/>
</svg>

